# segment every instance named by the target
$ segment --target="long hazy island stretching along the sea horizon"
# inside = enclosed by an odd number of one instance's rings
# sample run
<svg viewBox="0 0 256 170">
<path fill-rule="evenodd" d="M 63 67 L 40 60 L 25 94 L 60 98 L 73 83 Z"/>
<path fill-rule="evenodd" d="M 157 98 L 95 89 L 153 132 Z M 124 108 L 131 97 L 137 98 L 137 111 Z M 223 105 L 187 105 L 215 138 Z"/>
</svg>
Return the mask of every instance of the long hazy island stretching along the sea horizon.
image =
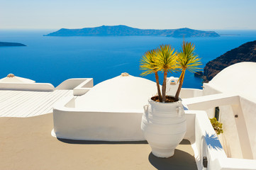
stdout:
<svg viewBox="0 0 256 170">
<path fill-rule="evenodd" d="M 219 37 L 214 31 L 192 30 L 190 28 L 179 28 L 172 30 L 139 29 L 128 26 L 100 26 L 94 28 L 66 29 L 62 28 L 56 32 L 44 36 L 163 36 L 172 38 L 192 37 Z"/>
</svg>

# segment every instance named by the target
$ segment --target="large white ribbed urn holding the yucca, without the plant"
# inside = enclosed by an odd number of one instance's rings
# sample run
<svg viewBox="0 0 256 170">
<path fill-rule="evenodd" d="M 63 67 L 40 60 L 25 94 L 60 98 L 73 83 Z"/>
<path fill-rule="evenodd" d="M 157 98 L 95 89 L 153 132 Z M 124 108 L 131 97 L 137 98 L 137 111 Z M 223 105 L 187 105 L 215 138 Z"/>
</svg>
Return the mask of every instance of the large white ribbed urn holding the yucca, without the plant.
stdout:
<svg viewBox="0 0 256 170">
<path fill-rule="evenodd" d="M 149 99 L 148 103 L 141 122 L 145 139 L 156 157 L 172 157 L 187 130 L 182 101 L 160 103 Z"/>
</svg>

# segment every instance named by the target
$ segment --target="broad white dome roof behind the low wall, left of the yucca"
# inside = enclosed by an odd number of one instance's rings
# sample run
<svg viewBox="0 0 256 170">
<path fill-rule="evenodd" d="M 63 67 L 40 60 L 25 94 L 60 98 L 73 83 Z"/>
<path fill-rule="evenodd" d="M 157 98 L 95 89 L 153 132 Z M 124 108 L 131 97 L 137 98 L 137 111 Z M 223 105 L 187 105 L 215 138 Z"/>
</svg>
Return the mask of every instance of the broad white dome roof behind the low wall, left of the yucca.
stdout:
<svg viewBox="0 0 256 170">
<path fill-rule="evenodd" d="M 76 99 L 76 108 L 89 111 L 142 110 L 148 98 L 157 94 L 156 83 L 133 76 L 118 76 L 94 86 Z"/>
</svg>

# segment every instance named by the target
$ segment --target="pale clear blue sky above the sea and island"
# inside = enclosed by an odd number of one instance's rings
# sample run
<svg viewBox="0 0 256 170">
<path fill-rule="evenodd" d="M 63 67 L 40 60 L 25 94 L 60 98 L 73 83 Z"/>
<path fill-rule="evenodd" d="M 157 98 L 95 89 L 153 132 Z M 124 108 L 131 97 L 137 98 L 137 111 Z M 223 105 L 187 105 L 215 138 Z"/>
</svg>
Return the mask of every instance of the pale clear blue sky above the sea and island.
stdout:
<svg viewBox="0 0 256 170">
<path fill-rule="evenodd" d="M 135 28 L 256 30 L 255 0 L 0 0 L 0 29 Z"/>
</svg>

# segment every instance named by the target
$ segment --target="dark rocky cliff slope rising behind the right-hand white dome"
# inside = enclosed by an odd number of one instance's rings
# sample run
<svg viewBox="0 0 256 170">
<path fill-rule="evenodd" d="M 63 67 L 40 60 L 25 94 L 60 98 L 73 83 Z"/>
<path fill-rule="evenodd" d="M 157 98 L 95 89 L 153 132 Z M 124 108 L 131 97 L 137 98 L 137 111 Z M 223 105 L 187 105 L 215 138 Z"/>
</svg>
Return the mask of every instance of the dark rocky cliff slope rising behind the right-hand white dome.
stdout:
<svg viewBox="0 0 256 170">
<path fill-rule="evenodd" d="M 204 67 L 204 72 L 195 73 L 195 77 L 201 77 L 207 83 L 221 70 L 238 62 L 256 62 L 256 40 L 246 42 L 217 57 L 215 60 L 211 60 Z"/>
</svg>

